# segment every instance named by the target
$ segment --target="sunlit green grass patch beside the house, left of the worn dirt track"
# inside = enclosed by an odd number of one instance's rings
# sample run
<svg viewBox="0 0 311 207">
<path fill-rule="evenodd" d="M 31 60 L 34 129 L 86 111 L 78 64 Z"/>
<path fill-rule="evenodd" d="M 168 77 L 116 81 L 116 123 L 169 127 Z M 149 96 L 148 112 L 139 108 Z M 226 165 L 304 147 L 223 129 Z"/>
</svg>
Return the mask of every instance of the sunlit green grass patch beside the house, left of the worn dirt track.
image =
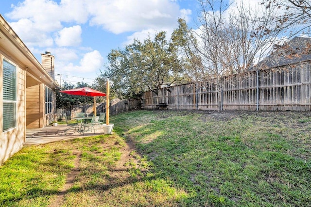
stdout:
<svg viewBox="0 0 311 207">
<path fill-rule="evenodd" d="M 73 158 L 60 146 L 23 148 L 0 168 L 0 206 L 46 206 L 64 184 Z"/>
</svg>

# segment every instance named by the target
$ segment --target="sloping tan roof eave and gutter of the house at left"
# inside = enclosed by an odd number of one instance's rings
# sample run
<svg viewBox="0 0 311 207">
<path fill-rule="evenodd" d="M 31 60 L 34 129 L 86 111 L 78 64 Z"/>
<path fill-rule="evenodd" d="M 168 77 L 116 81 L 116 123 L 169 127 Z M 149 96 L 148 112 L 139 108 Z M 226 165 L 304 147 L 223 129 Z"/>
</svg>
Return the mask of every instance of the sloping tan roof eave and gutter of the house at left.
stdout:
<svg viewBox="0 0 311 207">
<path fill-rule="evenodd" d="M 49 75 L 38 62 L 26 45 L 13 31 L 7 21 L 0 15 L 0 48 L 6 56 L 12 58 L 19 66 L 45 85 L 59 88 L 58 83 Z"/>
</svg>

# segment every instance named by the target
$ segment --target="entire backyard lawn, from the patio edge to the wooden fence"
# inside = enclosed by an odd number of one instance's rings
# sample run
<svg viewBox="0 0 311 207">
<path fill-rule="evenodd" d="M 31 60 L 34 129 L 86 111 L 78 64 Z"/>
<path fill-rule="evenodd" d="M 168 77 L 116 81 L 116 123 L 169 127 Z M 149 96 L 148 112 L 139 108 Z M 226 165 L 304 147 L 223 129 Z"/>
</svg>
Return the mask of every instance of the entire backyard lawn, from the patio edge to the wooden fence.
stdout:
<svg viewBox="0 0 311 207">
<path fill-rule="evenodd" d="M 0 206 L 311 206 L 311 112 L 146 110 L 110 122 L 113 135 L 24 147 L 0 167 Z"/>
</svg>

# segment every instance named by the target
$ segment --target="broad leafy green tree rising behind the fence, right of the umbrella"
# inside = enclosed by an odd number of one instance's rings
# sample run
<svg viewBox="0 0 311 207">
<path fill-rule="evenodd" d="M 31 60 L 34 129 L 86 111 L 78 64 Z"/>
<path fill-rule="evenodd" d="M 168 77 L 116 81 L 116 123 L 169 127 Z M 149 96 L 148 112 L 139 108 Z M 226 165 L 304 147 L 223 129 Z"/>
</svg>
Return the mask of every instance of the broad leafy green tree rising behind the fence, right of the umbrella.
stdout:
<svg viewBox="0 0 311 207">
<path fill-rule="evenodd" d="M 111 50 L 109 64 L 97 79 L 111 80 L 111 91 L 119 98 L 137 97 L 144 91 L 157 89 L 163 84 L 171 85 L 183 79 L 183 63 L 178 57 L 178 48 L 167 41 L 166 32 L 159 32 L 143 43 L 135 40 L 124 49 Z"/>
</svg>

